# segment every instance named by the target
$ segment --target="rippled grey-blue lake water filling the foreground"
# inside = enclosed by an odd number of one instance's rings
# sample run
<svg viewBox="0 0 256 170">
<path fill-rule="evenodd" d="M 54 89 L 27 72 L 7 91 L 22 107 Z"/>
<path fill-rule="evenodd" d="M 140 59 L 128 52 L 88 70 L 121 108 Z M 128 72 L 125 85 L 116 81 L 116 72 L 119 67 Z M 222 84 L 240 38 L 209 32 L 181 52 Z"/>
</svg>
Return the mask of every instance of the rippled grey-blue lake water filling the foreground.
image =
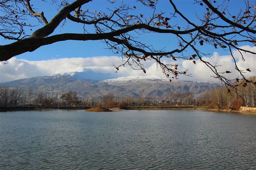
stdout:
<svg viewBox="0 0 256 170">
<path fill-rule="evenodd" d="M 256 169 L 256 116 L 196 110 L 0 113 L 0 169 Z"/>
</svg>

